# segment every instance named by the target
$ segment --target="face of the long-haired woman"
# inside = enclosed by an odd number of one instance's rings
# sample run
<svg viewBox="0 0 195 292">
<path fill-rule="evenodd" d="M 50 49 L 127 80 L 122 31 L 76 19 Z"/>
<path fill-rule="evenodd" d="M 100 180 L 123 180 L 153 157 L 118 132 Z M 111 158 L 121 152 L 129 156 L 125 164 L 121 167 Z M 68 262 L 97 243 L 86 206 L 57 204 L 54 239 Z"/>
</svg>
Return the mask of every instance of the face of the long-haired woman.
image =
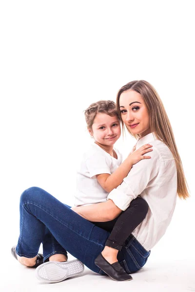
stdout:
<svg viewBox="0 0 195 292">
<path fill-rule="evenodd" d="M 132 90 L 122 92 L 119 107 L 121 118 L 132 134 L 143 137 L 151 132 L 148 110 L 141 94 Z"/>
</svg>

